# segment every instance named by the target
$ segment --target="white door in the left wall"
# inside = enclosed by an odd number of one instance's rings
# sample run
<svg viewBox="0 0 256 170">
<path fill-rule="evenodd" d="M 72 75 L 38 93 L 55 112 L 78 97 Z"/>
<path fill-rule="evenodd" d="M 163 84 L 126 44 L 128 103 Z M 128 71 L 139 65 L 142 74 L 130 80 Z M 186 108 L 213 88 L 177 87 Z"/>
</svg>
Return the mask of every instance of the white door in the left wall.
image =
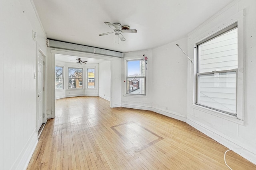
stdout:
<svg viewBox="0 0 256 170">
<path fill-rule="evenodd" d="M 37 130 L 40 129 L 43 123 L 43 85 L 44 85 L 44 56 L 38 51 L 38 73 L 37 73 L 37 87 L 38 87 L 38 100 L 37 100 Z"/>
</svg>

